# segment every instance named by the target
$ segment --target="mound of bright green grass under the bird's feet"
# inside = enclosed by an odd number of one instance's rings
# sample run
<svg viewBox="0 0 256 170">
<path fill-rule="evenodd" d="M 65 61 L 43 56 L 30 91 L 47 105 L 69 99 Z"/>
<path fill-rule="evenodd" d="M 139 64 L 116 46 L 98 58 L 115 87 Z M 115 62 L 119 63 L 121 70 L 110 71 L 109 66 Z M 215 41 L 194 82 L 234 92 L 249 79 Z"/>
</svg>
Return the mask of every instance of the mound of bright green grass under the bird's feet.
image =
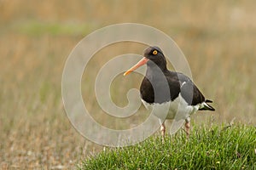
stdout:
<svg viewBox="0 0 256 170">
<path fill-rule="evenodd" d="M 195 127 L 189 140 L 183 132 L 160 135 L 141 144 L 108 149 L 84 160 L 79 169 L 256 169 L 256 128 Z"/>
</svg>

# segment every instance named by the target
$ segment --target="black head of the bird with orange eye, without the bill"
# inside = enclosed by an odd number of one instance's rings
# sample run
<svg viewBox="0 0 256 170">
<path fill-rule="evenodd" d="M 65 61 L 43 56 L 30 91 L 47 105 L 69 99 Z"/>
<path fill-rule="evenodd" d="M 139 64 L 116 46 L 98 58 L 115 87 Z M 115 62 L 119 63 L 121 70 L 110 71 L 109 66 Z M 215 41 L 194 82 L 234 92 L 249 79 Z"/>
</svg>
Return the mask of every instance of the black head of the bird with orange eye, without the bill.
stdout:
<svg viewBox="0 0 256 170">
<path fill-rule="evenodd" d="M 162 50 L 159 47 L 148 47 L 144 50 L 144 57 L 153 61 L 155 65 L 158 65 L 161 70 L 166 70 L 166 58 Z M 153 66 L 152 62 L 147 63 L 148 66 Z"/>
</svg>

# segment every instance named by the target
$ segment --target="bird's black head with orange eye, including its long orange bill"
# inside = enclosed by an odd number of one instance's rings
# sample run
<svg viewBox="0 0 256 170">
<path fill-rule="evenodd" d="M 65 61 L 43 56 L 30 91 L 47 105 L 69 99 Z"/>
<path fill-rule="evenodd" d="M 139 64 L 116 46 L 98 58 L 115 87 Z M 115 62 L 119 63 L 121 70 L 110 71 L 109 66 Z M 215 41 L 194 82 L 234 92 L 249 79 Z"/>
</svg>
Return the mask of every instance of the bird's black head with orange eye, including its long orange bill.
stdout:
<svg viewBox="0 0 256 170">
<path fill-rule="evenodd" d="M 135 71 L 138 67 L 147 64 L 149 67 L 158 66 L 161 70 L 166 70 L 166 58 L 162 50 L 159 47 L 153 46 L 148 47 L 144 50 L 144 57 L 136 65 L 132 66 L 131 69 L 124 73 L 124 76 Z"/>
</svg>

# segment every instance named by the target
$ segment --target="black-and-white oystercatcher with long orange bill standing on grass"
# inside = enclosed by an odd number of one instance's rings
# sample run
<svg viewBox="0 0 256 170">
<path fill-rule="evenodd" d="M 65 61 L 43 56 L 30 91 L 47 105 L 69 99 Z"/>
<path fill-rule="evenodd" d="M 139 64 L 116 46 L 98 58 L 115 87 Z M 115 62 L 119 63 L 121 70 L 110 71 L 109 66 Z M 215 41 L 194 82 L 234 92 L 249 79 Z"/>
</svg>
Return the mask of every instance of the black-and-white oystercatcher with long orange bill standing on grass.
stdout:
<svg viewBox="0 0 256 170">
<path fill-rule="evenodd" d="M 145 64 L 147 71 L 140 87 L 143 105 L 148 109 L 161 106 L 165 108 L 164 106 L 168 104 L 169 111 L 166 111 L 164 117 L 160 115 L 160 112 L 154 113 L 160 119 L 163 141 L 166 133 L 166 119 L 183 120 L 185 132 L 189 137 L 190 116 L 196 111 L 215 111 L 208 104 L 212 103 L 212 100 L 205 99 L 195 84 L 183 73 L 168 71 L 165 55 L 160 48 L 155 46 L 146 48 L 143 59 L 126 71 L 124 76 Z"/>
</svg>

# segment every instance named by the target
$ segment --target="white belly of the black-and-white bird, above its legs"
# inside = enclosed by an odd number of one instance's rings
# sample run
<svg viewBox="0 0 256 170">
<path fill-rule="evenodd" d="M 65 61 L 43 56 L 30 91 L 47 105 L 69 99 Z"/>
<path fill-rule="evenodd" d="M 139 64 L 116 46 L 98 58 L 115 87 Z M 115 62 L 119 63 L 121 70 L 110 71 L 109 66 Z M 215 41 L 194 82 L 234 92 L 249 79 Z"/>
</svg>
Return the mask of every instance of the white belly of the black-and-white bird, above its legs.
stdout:
<svg viewBox="0 0 256 170">
<path fill-rule="evenodd" d="M 152 110 L 154 115 L 159 117 L 161 120 L 185 120 L 199 109 L 199 105 L 188 105 L 180 95 L 178 95 L 178 97 L 173 101 L 167 101 L 161 104 L 149 104 L 143 99 L 142 101 L 143 105 L 145 105 L 147 109 Z"/>
</svg>

